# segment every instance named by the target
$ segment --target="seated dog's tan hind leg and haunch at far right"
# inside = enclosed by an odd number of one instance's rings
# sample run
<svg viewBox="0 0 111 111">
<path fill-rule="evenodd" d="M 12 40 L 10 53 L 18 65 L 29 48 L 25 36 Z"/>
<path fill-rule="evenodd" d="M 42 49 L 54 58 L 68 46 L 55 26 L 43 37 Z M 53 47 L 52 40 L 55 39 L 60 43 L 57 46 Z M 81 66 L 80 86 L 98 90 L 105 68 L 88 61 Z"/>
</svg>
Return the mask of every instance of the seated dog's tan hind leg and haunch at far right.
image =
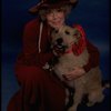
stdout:
<svg viewBox="0 0 111 111">
<path fill-rule="evenodd" d="M 89 84 L 91 85 L 88 87 L 88 99 L 89 102 L 87 103 L 88 107 L 93 105 L 97 102 L 101 102 L 104 99 L 103 95 L 103 88 L 101 84 L 101 71 L 100 69 L 97 67 L 95 69 L 90 71 L 91 73 L 89 73 L 89 75 L 92 75 L 90 78 Z"/>
</svg>

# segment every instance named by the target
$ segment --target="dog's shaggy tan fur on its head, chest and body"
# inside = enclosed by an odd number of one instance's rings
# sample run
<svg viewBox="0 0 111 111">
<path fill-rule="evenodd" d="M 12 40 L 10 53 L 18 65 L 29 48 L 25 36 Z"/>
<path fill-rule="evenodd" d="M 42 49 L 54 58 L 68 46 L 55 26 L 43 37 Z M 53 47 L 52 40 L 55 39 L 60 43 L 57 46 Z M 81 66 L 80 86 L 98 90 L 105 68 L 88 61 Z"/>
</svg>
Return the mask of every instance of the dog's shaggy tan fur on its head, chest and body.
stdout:
<svg viewBox="0 0 111 111">
<path fill-rule="evenodd" d="M 58 46 L 58 39 L 62 39 L 61 46 L 65 46 L 65 50 L 69 49 L 72 43 L 78 43 L 81 36 L 78 38 L 73 38 L 73 34 L 79 32 L 77 28 L 71 28 L 64 26 L 60 32 L 52 32 L 52 48 L 53 46 Z M 94 57 L 93 57 L 94 58 Z M 89 59 L 89 53 L 87 48 L 84 48 L 83 52 L 80 56 L 74 56 L 73 52 L 64 53 L 59 57 L 59 62 L 53 67 L 57 75 L 64 81 L 69 87 L 74 88 L 75 92 L 73 95 L 73 104 L 69 108 L 68 111 L 77 111 L 79 103 L 84 94 L 88 94 L 88 107 L 93 105 L 97 102 L 101 102 L 104 98 L 103 88 L 101 84 L 101 70 L 99 65 L 97 68 L 92 68 L 88 73 L 82 77 L 68 81 L 63 78 L 64 73 L 68 73 L 71 70 L 74 70 L 74 67 L 83 67 L 87 64 Z"/>
</svg>

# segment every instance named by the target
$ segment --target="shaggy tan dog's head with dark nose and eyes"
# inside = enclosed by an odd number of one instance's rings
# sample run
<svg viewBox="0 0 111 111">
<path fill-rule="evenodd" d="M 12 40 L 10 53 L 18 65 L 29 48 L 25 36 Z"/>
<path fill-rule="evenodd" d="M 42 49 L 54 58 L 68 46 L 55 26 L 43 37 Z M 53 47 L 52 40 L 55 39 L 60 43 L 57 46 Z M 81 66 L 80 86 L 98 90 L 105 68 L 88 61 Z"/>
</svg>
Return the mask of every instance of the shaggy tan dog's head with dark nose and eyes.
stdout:
<svg viewBox="0 0 111 111">
<path fill-rule="evenodd" d="M 52 31 L 52 48 L 58 47 L 60 50 L 65 51 L 73 43 L 78 43 L 80 36 L 78 29 L 71 28 L 69 26 L 62 27 L 60 31 Z M 78 38 L 77 38 L 78 37 Z"/>
</svg>

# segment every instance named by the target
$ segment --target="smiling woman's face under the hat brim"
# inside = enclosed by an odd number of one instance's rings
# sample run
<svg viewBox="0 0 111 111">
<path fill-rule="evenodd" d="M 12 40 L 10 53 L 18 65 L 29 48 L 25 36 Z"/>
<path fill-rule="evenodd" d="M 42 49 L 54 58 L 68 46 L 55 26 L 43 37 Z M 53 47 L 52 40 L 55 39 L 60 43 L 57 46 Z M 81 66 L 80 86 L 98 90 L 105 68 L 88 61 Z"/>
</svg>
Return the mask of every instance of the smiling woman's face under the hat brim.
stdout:
<svg viewBox="0 0 111 111">
<path fill-rule="evenodd" d="M 47 21 L 48 23 L 59 30 L 64 24 L 64 11 L 60 9 L 53 9 L 47 12 Z"/>
</svg>

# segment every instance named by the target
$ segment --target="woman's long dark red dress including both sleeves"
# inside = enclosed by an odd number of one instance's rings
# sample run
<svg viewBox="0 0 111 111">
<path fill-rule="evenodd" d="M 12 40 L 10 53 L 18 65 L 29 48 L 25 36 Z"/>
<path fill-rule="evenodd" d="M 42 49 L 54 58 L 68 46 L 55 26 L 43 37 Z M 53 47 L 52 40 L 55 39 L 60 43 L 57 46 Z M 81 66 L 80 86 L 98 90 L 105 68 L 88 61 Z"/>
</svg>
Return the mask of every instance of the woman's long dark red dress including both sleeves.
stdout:
<svg viewBox="0 0 111 111">
<path fill-rule="evenodd" d="M 50 52 L 50 30 L 44 22 L 41 36 L 41 52 L 39 53 L 40 20 L 34 19 L 24 27 L 22 52 L 19 54 L 14 72 L 20 84 L 19 91 L 8 104 L 8 111 L 63 111 L 65 90 L 58 78 L 42 69 L 53 54 Z M 83 34 L 83 30 L 80 32 Z M 89 63 L 84 70 L 99 64 L 99 52 L 87 41 L 90 53 Z M 93 60 L 94 59 L 94 60 Z"/>
</svg>

